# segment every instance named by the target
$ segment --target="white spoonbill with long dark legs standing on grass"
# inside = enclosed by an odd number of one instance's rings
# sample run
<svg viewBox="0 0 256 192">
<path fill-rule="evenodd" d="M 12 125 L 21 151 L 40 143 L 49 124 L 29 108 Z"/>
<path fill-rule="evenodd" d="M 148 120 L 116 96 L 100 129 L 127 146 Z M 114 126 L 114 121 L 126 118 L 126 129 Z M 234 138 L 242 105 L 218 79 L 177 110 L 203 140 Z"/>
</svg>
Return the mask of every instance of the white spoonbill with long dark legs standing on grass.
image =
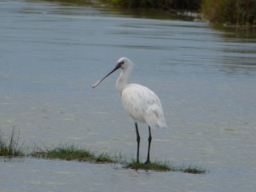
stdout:
<svg viewBox="0 0 256 192">
<path fill-rule="evenodd" d="M 134 120 L 135 130 L 137 134 L 137 163 L 140 162 L 140 134 L 138 131 L 138 123 L 146 123 L 148 125 L 148 156 L 145 164 L 150 163 L 150 145 L 152 141 L 152 128 L 167 128 L 163 108 L 160 98 L 156 96 L 153 90 L 141 84 L 128 84 L 127 81 L 131 75 L 133 63 L 126 57 L 121 57 L 117 61 L 113 70 L 104 78 L 92 84 L 92 88 L 96 88 L 102 80 L 106 79 L 111 73 L 121 69 L 119 78 L 116 81 L 116 89 L 119 93 L 120 100 L 125 111 Z"/>
</svg>

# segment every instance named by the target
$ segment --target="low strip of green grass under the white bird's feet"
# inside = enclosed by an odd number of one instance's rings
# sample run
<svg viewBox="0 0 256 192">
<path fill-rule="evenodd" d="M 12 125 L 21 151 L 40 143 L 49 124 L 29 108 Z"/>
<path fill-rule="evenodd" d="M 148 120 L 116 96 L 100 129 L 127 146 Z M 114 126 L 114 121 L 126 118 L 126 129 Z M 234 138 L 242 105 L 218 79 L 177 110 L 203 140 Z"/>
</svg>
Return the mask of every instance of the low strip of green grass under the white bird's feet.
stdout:
<svg viewBox="0 0 256 192">
<path fill-rule="evenodd" d="M 123 168 L 131 168 L 135 170 L 153 170 L 158 172 L 188 172 L 193 174 L 202 174 L 206 171 L 197 166 L 172 166 L 167 162 L 154 161 L 149 164 L 137 163 L 136 160 L 128 160 L 124 154 L 96 153 L 91 150 L 79 148 L 73 144 L 61 144 L 56 148 L 36 148 L 31 153 L 26 153 L 21 148 L 19 143 L 19 133 L 16 135 L 15 129 L 11 131 L 9 137 L 4 137 L 3 132 L 0 132 L 0 156 L 2 157 L 33 157 L 49 160 L 76 160 L 79 162 L 90 163 L 114 163 L 123 165 Z"/>
</svg>

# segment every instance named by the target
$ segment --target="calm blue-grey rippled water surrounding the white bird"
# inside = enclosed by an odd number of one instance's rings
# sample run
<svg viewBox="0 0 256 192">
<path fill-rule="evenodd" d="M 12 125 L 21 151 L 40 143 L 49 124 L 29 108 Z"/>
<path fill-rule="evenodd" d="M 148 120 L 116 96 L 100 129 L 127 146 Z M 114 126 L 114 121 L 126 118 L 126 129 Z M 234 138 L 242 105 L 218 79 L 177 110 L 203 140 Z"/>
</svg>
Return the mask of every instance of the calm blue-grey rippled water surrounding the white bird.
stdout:
<svg viewBox="0 0 256 192">
<path fill-rule="evenodd" d="M 120 56 L 131 82 L 160 96 L 168 129 L 153 130 L 152 160 L 196 165 L 205 175 L 135 172 L 59 160 L 0 161 L 5 191 L 254 191 L 256 35 L 204 22 L 154 20 L 106 8 L 0 3 L 0 129 L 24 146 L 76 143 L 136 153 L 132 120 L 115 90 L 95 90 Z M 142 160 L 148 130 L 139 125 Z M 4 173 L 4 174 L 3 174 Z"/>
</svg>

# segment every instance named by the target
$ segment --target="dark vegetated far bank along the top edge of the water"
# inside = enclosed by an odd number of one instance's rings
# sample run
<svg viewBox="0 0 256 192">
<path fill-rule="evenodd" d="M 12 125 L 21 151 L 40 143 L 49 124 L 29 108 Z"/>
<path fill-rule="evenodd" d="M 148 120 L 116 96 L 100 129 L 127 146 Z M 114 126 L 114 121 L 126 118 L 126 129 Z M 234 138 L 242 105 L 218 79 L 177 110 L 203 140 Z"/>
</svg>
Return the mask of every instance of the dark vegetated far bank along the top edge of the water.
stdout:
<svg viewBox="0 0 256 192">
<path fill-rule="evenodd" d="M 39 0 L 59 2 L 63 5 L 95 6 L 102 5 L 123 10 L 157 10 L 166 13 L 189 12 L 201 13 L 203 18 L 212 23 L 225 26 L 255 26 L 255 0 Z M 131 12 L 132 13 L 132 12 Z"/>
</svg>

